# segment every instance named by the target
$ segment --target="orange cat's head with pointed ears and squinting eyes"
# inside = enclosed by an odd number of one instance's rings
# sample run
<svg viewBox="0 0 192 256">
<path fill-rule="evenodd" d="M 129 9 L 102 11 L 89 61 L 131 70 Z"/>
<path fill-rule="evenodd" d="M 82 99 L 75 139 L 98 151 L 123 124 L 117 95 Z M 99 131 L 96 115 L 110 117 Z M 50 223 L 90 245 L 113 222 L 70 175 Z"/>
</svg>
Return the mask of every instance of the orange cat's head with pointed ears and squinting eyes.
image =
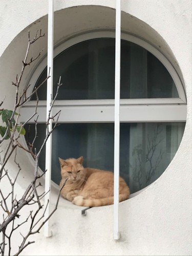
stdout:
<svg viewBox="0 0 192 256">
<path fill-rule="evenodd" d="M 61 177 L 63 179 L 69 178 L 70 181 L 78 181 L 83 177 L 83 157 L 61 159 L 59 158 L 61 167 Z"/>
</svg>

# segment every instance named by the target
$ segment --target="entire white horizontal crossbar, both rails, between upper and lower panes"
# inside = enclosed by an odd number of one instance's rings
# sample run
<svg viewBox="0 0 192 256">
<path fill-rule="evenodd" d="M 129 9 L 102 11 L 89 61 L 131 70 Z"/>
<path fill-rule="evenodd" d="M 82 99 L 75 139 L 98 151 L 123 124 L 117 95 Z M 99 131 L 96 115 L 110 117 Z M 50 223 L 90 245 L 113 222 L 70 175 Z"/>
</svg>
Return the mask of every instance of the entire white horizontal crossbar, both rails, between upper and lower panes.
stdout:
<svg viewBox="0 0 192 256">
<path fill-rule="evenodd" d="M 136 102 L 138 101 L 138 104 Z M 120 100 L 120 122 L 184 122 L 186 104 L 179 99 Z M 20 122 L 35 111 L 36 101 L 29 101 L 20 110 Z M 53 114 L 61 110 L 60 123 L 114 122 L 114 100 L 56 100 Z M 38 122 L 46 122 L 46 101 L 38 103 Z M 33 122 L 31 120 L 30 122 Z"/>
</svg>

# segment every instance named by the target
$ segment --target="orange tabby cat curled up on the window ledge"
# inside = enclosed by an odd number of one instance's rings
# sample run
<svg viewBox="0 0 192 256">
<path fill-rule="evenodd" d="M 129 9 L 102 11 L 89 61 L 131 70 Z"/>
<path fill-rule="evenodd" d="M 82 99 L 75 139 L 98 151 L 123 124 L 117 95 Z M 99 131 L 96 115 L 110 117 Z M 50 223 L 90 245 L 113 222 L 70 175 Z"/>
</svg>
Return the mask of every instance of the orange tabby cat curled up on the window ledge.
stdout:
<svg viewBox="0 0 192 256">
<path fill-rule="evenodd" d="M 61 196 L 73 204 L 86 207 L 110 205 L 114 203 L 114 174 L 107 170 L 84 168 L 83 157 L 59 158 L 61 167 Z M 119 202 L 128 199 L 130 189 L 119 177 Z"/>
</svg>

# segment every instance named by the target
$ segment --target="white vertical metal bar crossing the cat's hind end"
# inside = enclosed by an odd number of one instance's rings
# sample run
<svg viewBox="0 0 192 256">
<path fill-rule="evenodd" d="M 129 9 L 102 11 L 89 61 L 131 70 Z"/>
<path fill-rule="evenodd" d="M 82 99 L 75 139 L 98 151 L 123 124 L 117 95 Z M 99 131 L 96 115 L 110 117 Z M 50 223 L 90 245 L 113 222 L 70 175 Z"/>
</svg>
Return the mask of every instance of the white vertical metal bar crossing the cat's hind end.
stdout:
<svg viewBox="0 0 192 256">
<path fill-rule="evenodd" d="M 116 0 L 115 30 L 115 134 L 114 134 L 114 239 L 119 234 L 119 138 L 120 138 L 120 54 L 121 54 L 121 0 Z"/>
</svg>

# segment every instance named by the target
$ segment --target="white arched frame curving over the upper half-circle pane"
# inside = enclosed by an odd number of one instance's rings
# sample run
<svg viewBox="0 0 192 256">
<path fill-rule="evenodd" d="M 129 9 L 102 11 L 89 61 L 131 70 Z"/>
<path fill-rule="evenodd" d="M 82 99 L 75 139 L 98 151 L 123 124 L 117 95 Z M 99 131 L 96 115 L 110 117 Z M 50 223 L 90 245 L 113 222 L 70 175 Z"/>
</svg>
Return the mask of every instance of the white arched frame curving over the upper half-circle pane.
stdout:
<svg viewBox="0 0 192 256">
<path fill-rule="evenodd" d="M 76 36 L 67 38 L 66 40 L 60 42 L 59 44 L 57 44 L 54 47 L 53 58 L 55 58 L 61 52 L 67 50 L 68 48 L 70 48 L 70 47 L 72 47 L 72 46 L 74 46 L 74 45 L 76 45 L 80 42 L 87 41 L 87 40 L 90 40 L 90 39 L 96 39 L 96 38 L 115 38 L 115 32 L 113 32 L 113 31 L 103 31 L 103 30 L 102 31 L 92 31 L 92 32 L 78 34 Z M 151 52 L 156 58 L 158 58 L 158 60 L 160 60 L 163 64 L 163 66 L 167 69 L 170 76 L 172 76 L 172 79 L 176 84 L 176 88 L 177 88 L 177 91 L 178 91 L 178 94 L 179 94 L 179 98 L 172 98 L 173 103 L 178 103 L 178 104 L 186 104 L 187 103 L 184 86 L 183 86 L 183 83 L 182 83 L 178 73 L 176 72 L 176 70 L 174 69 L 174 67 L 170 63 L 170 61 L 156 47 L 149 44 L 145 40 L 143 40 L 139 37 L 136 37 L 134 35 L 128 34 L 128 33 L 121 33 L 121 39 L 133 42 L 134 44 L 141 46 L 145 50 Z M 44 69 L 46 67 L 47 67 L 47 55 L 41 60 L 40 63 L 37 63 L 37 65 L 35 66 L 35 68 L 31 72 L 31 76 L 29 76 L 29 80 L 28 80 L 27 84 L 34 84 L 35 85 L 38 77 L 40 76 L 42 71 L 44 71 Z M 33 87 L 30 87 L 28 89 L 27 95 L 30 95 L 32 93 L 32 91 L 33 91 Z M 143 99 L 137 99 L 137 104 L 138 104 L 138 100 L 143 101 Z M 154 101 L 153 99 L 148 99 L 148 100 L 151 100 L 152 103 Z M 134 103 L 134 101 L 132 103 Z"/>
</svg>

